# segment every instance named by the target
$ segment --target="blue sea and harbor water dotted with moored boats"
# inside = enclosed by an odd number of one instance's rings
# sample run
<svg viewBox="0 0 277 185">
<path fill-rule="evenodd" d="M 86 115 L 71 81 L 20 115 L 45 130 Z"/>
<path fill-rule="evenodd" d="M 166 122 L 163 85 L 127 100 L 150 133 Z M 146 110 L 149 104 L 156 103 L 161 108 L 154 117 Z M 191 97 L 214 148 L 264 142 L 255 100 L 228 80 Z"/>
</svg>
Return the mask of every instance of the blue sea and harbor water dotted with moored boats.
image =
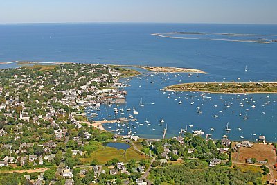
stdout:
<svg viewBox="0 0 277 185">
<path fill-rule="evenodd" d="M 177 77 L 175 74 L 156 74 L 148 79 L 143 75 L 141 80 L 139 77 L 129 80 L 131 86 L 126 88 L 127 104 L 123 106 L 125 114 L 122 116 L 132 114 L 127 113 L 128 107 L 139 111 L 136 116 L 139 123 L 129 123 L 128 126 L 132 127 L 132 134 L 161 138 L 162 130 L 167 124 L 166 137 L 177 136 L 181 128 L 191 124 L 193 127 L 189 127 L 189 130 L 202 129 L 205 134 L 212 133 L 210 127 L 213 127 L 213 138 L 219 139 L 223 134 L 227 134 L 224 127 L 229 122 L 231 132 L 228 135 L 231 139 L 238 140 L 240 136 L 244 136 L 244 139 L 253 140 L 263 134 L 268 141 L 277 141 L 276 94 L 208 94 L 211 98 L 203 99 L 197 93 L 168 95 L 159 91 L 167 85 L 179 82 L 229 82 L 238 81 L 238 77 L 244 82 L 276 81 L 277 43 L 168 39 L 151 35 L 172 31 L 276 35 L 277 25 L 1 24 L 0 62 L 99 62 L 202 69 L 208 74 L 200 74 L 199 78 L 196 75 L 189 78 L 188 74 L 180 73 Z M 10 67 L 15 65 L 11 64 Z M 244 71 L 246 65 L 249 70 L 247 72 Z M 3 68 L 2 65 L 0 67 Z M 167 98 L 168 96 L 170 98 Z M 191 99 L 191 96 L 197 97 Z M 139 107 L 141 98 L 145 107 Z M 181 105 L 178 104 L 179 100 L 183 102 Z M 240 107 L 240 103 L 244 107 Z M 227 105 L 230 107 L 227 108 Z M 252 105 L 256 107 L 252 108 Z M 197 114 L 197 107 L 200 107 L 202 114 Z M 112 108 L 102 106 L 97 119 L 107 118 L 108 114 L 114 118 Z M 242 116 L 238 116 L 240 113 Z M 214 115 L 218 118 L 213 117 Z M 247 115 L 248 119 L 243 120 L 243 115 Z M 165 123 L 159 126 L 161 118 Z M 144 123 L 146 119 L 151 125 Z M 122 134 L 127 133 L 126 126 Z M 118 129 L 116 124 L 104 127 L 107 130 Z M 241 130 L 238 130 L 238 127 Z M 153 128 L 155 130 L 152 130 Z"/>
</svg>

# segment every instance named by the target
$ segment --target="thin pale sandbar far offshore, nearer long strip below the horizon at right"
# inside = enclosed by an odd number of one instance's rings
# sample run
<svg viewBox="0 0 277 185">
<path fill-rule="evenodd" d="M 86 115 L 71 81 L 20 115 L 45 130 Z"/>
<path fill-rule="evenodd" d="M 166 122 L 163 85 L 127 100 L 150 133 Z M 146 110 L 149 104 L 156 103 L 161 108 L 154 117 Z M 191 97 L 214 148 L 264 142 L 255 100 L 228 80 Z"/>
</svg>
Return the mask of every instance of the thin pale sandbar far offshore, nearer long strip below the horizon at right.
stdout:
<svg viewBox="0 0 277 185">
<path fill-rule="evenodd" d="M 151 35 L 157 37 L 164 37 L 170 39 L 197 39 L 197 40 L 214 40 L 214 41 L 226 41 L 226 42 L 253 42 L 253 43 L 260 43 L 260 44 L 270 44 L 269 41 L 255 41 L 255 40 L 238 40 L 238 39 L 208 39 L 208 38 L 196 38 L 196 37 L 172 37 L 172 36 L 165 36 L 161 35 L 163 33 L 152 33 Z M 166 33 L 170 34 L 170 33 Z"/>
</svg>

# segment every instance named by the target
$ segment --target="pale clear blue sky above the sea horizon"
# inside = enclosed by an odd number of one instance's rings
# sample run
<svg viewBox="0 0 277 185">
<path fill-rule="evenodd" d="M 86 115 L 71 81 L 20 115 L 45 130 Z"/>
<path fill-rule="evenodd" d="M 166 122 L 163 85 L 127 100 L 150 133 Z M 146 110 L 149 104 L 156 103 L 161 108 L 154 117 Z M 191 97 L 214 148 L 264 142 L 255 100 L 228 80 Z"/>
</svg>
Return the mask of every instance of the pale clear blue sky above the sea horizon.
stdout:
<svg viewBox="0 0 277 185">
<path fill-rule="evenodd" d="M 0 23 L 277 24 L 277 0 L 0 0 Z"/>
</svg>

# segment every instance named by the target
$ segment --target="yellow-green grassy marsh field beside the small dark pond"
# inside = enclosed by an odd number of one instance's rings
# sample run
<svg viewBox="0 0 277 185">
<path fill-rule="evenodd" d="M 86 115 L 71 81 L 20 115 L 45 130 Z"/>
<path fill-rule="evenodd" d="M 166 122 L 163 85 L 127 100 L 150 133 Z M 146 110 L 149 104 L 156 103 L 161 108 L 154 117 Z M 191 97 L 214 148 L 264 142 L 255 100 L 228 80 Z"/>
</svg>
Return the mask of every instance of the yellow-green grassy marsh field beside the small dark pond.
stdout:
<svg viewBox="0 0 277 185">
<path fill-rule="evenodd" d="M 127 162 L 131 159 L 147 159 L 147 157 L 144 155 L 136 152 L 133 147 L 130 147 L 127 150 L 118 150 L 113 147 L 98 146 L 96 151 L 91 152 L 90 157 L 81 158 L 80 160 L 83 162 L 83 164 L 90 164 L 93 159 L 97 159 L 99 164 L 106 164 L 107 161 L 114 158 L 123 162 Z"/>
</svg>

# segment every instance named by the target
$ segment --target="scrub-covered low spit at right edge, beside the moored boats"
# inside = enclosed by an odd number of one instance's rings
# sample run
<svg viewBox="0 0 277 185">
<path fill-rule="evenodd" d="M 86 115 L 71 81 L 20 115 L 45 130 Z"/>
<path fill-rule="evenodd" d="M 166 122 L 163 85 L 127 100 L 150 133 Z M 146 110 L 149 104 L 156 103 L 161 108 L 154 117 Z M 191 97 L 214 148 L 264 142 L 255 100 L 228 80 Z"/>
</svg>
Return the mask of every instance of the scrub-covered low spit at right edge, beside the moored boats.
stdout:
<svg viewBox="0 0 277 185">
<path fill-rule="evenodd" d="M 195 82 L 171 85 L 166 91 L 201 91 L 227 94 L 277 93 L 276 82 Z"/>
</svg>

